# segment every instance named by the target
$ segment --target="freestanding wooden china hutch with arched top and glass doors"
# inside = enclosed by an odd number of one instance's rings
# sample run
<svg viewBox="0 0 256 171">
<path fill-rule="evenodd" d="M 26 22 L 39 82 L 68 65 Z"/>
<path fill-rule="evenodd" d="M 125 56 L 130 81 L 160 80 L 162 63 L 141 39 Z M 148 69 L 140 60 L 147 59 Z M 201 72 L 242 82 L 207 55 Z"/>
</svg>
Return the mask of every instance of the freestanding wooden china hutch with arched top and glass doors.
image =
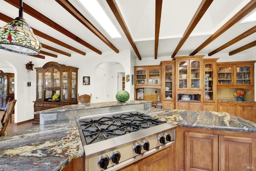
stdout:
<svg viewBox="0 0 256 171">
<path fill-rule="evenodd" d="M 77 74 L 78 68 L 48 62 L 42 68 L 36 69 L 36 101 L 34 112 L 77 104 Z M 60 99 L 52 99 L 54 94 Z M 40 115 L 34 115 L 32 124 L 40 123 Z"/>
</svg>

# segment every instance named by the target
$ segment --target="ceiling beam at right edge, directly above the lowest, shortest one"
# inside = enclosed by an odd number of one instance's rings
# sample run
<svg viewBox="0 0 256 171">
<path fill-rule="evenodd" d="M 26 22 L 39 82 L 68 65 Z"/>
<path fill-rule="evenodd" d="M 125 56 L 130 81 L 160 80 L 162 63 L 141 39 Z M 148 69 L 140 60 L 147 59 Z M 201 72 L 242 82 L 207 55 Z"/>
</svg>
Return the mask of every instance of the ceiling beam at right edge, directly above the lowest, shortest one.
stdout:
<svg viewBox="0 0 256 171">
<path fill-rule="evenodd" d="M 217 48 L 216 50 L 210 52 L 208 54 L 208 56 L 212 56 L 214 54 L 216 54 L 217 52 L 220 52 L 221 50 L 227 48 L 228 46 L 231 46 L 232 44 L 235 44 L 236 42 L 242 40 L 243 38 L 246 38 L 247 36 L 250 36 L 251 34 L 256 32 L 256 26 L 250 28 L 249 30 L 247 30 L 246 32 L 243 32 L 242 34 L 240 34 L 239 36 L 237 36 L 236 38 L 230 40 L 229 42 L 227 42 L 226 44 L 220 46 L 219 48 Z"/>
</svg>

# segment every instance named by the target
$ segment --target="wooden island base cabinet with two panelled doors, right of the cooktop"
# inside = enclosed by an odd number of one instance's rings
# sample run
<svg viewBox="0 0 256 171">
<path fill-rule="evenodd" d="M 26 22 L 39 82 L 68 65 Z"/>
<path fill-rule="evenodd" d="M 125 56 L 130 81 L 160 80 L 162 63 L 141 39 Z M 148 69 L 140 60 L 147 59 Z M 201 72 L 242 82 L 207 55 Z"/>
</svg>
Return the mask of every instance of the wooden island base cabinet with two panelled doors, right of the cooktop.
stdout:
<svg viewBox="0 0 256 171">
<path fill-rule="evenodd" d="M 254 170 L 255 148 L 255 133 L 177 127 L 174 170 Z"/>
</svg>

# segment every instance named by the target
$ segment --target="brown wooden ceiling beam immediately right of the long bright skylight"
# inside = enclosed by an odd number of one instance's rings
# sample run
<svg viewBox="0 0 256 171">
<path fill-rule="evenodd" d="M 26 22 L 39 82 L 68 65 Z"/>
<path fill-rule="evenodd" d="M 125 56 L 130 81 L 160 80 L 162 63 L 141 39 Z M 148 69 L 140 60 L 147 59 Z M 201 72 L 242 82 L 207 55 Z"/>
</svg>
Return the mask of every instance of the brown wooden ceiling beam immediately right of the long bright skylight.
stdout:
<svg viewBox="0 0 256 171">
<path fill-rule="evenodd" d="M 126 35 L 128 41 L 130 42 L 134 52 L 136 53 L 136 55 L 138 56 L 139 60 L 141 60 L 141 56 L 140 53 L 132 39 L 132 36 L 128 30 L 128 27 L 126 26 L 125 22 L 124 22 L 124 18 L 122 17 L 122 14 L 116 4 L 115 0 L 106 0 L 108 2 L 109 7 L 111 8 L 113 14 L 116 16 L 116 20 L 118 21 L 118 23 L 120 24 L 121 28 L 124 31 L 124 34 Z"/>
</svg>

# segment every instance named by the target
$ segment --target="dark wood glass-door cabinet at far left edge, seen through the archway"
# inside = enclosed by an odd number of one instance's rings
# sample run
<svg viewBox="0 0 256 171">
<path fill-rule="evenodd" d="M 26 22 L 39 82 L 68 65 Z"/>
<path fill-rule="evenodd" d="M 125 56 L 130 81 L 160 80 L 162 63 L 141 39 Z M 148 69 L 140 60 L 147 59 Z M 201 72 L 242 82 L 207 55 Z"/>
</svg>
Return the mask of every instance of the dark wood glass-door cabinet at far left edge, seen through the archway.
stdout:
<svg viewBox="0 0 256 171">
<path fill-rule="evenodd" d="M 0 109 L 6 109 L 9 98 L 14 99 L 14 74 L 0 70 Z"/>
</svg>

